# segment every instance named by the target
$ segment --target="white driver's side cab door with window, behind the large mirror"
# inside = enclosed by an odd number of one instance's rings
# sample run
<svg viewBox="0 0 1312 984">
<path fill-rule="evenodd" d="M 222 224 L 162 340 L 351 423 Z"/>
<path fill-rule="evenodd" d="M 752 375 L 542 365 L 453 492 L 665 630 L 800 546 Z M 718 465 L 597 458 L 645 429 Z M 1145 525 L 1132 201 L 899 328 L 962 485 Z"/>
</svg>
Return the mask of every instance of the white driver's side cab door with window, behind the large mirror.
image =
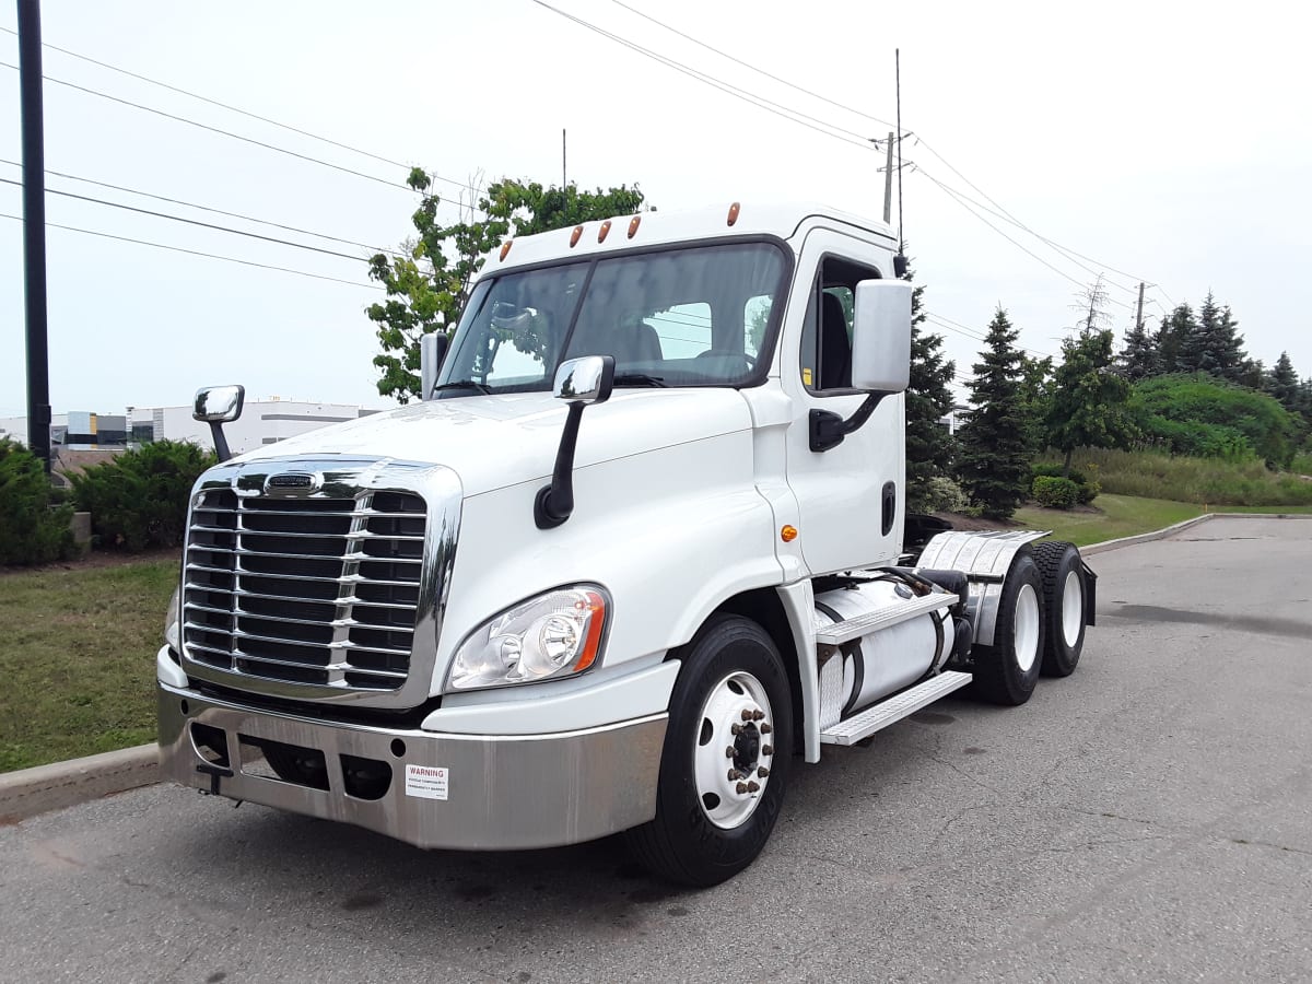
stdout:
<svg viewBox="0 0 1312 984">
<path fill-rule="evenodd" d="M 874 234 L 871 234 L 874 236 Z M 866 395 L 851 388 L 857 283 L 891 277 L 892 251 L 834 228 L 806 234 L 782 336 L 781 383 L 792 398 L 787 476 L 798 500 L 798 541 L 812 575 L 893 562 L 901 552 L 905 413 L 884 398 L 858 430 L 812 450 L 813 411 L 844 420 Z"/>
</svg>

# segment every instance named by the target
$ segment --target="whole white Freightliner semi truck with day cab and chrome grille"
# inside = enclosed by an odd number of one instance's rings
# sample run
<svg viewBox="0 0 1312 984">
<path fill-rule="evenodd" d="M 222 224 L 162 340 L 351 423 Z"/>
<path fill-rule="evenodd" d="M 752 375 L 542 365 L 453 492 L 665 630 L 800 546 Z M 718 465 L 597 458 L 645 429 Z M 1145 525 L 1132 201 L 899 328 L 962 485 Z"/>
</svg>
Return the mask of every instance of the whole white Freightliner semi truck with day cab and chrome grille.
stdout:
<svg viewBox="0 0 1312 984">
<path fill-rule="evenodd" d="M 590 222 L 487 257 L 420 403 L 234 458 L 241 390 L 202 390 L 164 775 L 714 884 L 798 760 L 1071 673 L 1075 547 L 907 514 L 895 249 L 819 207 Z"/>
</svg>

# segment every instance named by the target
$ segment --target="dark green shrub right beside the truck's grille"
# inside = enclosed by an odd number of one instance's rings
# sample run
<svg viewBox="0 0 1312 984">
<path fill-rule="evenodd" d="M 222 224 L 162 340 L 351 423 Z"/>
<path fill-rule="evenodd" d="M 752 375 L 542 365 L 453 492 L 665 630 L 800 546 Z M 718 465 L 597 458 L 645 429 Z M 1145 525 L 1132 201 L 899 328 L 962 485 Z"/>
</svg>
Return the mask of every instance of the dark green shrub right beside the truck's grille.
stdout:
<svg viewBox="0 0 1312 984">
<path fill-rule="evenodd" d="M 214 462 L 193 443 L 155 441 L 72 475 L 73 496 L 91 513 L 98 546 L 176 547 L 186 531 L 192 485 Z"/>
</svg>

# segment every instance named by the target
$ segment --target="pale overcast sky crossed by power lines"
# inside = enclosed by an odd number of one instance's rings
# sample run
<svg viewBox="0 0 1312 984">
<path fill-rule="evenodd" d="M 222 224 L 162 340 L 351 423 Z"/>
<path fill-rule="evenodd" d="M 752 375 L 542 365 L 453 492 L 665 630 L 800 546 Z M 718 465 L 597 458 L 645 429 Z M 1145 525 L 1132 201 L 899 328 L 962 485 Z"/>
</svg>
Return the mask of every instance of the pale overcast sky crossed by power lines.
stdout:
<svg viewBox="0 0 1312 984">
<path fill-rule="evenodd" d="M 417 199 L 396 186 L 409 164 L 450 178 L 440 188 L 455 201 L 479 177 L 559 184 L 564 129 L 571 181 L 636 182 L 661 210 L 804 199 L 879 216 L 883 155 L 867 142 L 896 121 L 897 49 L 901 227 L 959 374 L 1000 304 L 1022 346 L 1057 353 L 1102 273 L 1118 337 L 1140 281 L 1149 327 L 1211 290 L 1252 357 L 1287 350 L 1312 375 L 1312 13 L 1298 5 L 546 1 L 810 126 L 534 0 L 46 0 L 49 171 L 335 239 L 54 174 L 50 189 L 341 255 L 49 194 L 50 223 L 285 268 L 49 228 L 54 411 L 188 404 L 228 382 L 251 399 L 391 405 L 375 387 L 363 312 L 382 293 L 365 257 L 412 231 Z M 12 66 L 16 28 L 14 5 L 0 8 Z M 18 72 L 0 66 L 0 160 L 20 148 Z M 21 171 L 0 164 L 0 178 Z M 21 213 L 20 188 L 0 182 L 0 214 Z M 0 278 L 4 417 L 26 407 L 22 234 L 9 218 Z"/>
</svg>

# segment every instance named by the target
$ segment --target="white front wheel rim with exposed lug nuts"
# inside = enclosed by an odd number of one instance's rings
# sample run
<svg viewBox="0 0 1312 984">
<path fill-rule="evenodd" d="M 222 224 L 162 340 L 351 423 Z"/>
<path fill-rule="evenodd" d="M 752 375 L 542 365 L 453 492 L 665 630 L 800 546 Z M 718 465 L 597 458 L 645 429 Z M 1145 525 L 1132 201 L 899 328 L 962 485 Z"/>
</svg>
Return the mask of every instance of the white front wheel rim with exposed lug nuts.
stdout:
<svg viewBox="0 0 1312 984">
<path fill-rule="evenodd" d="M 740 670 L 712 686 L 694 739 L 702 812 L 722 829 L 740 827 L 765 795 L 774 758 L 774 716 L 761 681 Z"/>
</svg>

